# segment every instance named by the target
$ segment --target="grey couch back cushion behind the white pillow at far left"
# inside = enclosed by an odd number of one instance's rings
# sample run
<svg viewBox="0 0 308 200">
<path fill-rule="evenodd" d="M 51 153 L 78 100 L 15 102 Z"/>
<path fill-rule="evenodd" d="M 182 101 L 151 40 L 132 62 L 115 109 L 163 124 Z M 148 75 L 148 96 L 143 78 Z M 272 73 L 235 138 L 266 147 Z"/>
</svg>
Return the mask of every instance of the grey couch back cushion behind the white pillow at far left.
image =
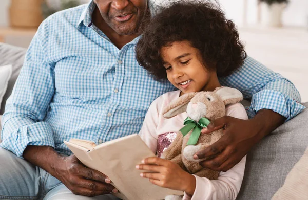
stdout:
<svg viewBox="0 0 308 200">
<path fill-rule="evenodd" d="M 11 64 L 12 76 L 9 80 L 7 91 L 3 97 L 0 109 L 0 115 L 4 113 L 5 103 L 7 98 L 11 95 L 15 81 L 24 63 L 26 49 L 20 47 L 14 47 L 4 43 L 0 43 L 0 66 Z"/>
</svg>

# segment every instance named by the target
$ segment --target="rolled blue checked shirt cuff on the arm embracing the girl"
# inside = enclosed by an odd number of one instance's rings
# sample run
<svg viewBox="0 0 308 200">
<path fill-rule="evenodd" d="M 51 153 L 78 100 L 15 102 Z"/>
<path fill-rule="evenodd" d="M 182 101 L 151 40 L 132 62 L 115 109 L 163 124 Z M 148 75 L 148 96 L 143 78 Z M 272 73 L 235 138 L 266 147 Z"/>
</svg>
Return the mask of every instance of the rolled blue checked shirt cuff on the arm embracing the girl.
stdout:
<svg viewBox="0 0 308 200">
<path fill-rule="evenodd" d="M 288 121 L 302 112 L 305 106 L 279 91 L 262 90 L 253 95 L 247 110 L 248 117 L 253 118 L 260 109 L 273 110 Z"/>
</svg>

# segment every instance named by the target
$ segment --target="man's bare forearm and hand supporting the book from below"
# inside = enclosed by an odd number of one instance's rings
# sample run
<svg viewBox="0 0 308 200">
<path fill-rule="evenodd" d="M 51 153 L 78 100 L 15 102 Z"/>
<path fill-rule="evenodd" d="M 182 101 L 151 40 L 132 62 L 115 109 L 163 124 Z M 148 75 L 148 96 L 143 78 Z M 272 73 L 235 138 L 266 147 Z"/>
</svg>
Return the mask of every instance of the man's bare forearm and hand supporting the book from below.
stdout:
<svg viewBox="0 0 308 200">
<path fill-rule="evenodd" d="M 23 156 L 59 179 L 74 194 L 92 197 L 118 192 L 106 175 L 86 168 L 74 155 L 63 157 L 49 146 L 27 146 Z"/>
</svg>

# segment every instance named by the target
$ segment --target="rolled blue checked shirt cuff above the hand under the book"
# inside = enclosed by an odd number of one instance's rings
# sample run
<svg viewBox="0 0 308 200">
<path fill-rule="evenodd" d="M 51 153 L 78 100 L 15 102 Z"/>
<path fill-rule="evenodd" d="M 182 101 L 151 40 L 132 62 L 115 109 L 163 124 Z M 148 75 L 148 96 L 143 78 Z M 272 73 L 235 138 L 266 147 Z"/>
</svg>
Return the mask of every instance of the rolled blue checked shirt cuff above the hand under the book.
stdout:
<svg viewBox="0 0 308 200">
<path fill-rule="evenodd" d="M 37 122 L 18 128 L 11 132 L 8 137 L 3 138 L 0 147 L 13 152 L 17 157 L 23 158 L 24 150 L 28 145 L 54 148 L 52 131 L 46 122 Z"/>
</svg>

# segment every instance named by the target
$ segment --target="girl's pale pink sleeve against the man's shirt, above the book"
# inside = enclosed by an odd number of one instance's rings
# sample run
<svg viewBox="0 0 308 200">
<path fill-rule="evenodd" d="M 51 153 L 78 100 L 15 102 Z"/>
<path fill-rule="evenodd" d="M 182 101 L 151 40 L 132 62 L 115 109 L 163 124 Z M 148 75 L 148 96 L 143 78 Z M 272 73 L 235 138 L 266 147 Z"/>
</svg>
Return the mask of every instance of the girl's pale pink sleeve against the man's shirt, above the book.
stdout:
<svg viewBox="0 0 308 200">
<path fill-rule="evenodd" d="M 139 136 L 145 142 L 145 144 L 156 154 L 158 136 L 157 126 L 159 120 L 159 105 L 162 104 L 162 98 L 158 98 L 153 101 L 145 115 L 142 128 L 139 132 Z"/>
</svg>

